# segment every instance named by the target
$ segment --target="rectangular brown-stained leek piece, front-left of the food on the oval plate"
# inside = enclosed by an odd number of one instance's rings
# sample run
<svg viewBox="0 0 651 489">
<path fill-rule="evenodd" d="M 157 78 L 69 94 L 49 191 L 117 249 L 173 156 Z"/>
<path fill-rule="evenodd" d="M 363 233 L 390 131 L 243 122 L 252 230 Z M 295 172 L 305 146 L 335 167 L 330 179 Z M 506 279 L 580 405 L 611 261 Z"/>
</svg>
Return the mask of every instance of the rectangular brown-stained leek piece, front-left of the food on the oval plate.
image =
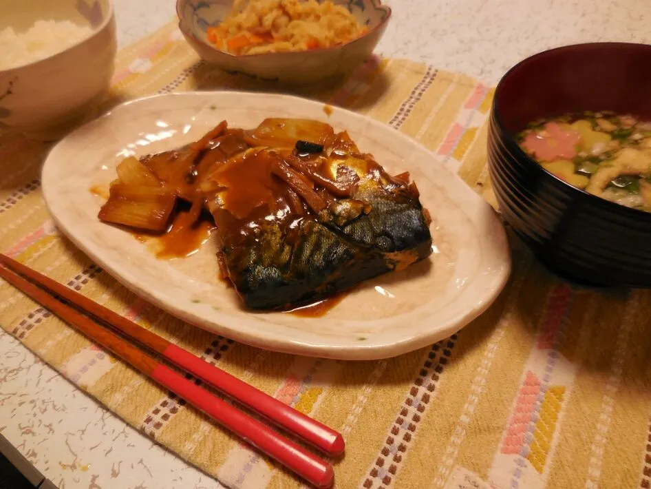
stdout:
<svg viewBox="0 0 651 489">
<path fill-rule="evenodd" d="M 111 187 L 109 200 L 100 209 L 98 218 L 112 224 L 162 232 L 167 229 L 175 204 L 176 196 L 162 187 L 118 184 Z"/>
</svg>

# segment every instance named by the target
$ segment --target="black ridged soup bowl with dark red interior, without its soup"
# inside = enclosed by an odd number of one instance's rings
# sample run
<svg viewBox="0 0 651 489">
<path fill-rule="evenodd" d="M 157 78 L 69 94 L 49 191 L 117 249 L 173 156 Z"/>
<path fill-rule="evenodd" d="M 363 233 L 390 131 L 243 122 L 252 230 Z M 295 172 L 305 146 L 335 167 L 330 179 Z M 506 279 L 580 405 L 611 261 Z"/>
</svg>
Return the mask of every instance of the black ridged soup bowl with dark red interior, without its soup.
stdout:
<svg viewBox="0 0 651 489">
<path fill-rule="evenodd" d="M 590 43 L 536 54 L 498 84 L 489 174 L 502 217 L 558 275 L 599 287 L 651 287 L 651 213 L 572 187 L 515 134 L 540 118 L 612 110 L 651 121 L 651 45 Z"/>
</svg>

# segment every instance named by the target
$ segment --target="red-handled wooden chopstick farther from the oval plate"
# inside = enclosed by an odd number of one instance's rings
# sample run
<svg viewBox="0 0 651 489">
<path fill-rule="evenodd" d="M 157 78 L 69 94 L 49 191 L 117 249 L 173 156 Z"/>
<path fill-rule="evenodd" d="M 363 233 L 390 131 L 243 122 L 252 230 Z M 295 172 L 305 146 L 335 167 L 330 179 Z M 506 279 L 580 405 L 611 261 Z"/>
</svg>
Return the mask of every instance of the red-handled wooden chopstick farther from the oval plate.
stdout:
<svg viewBox="0 0 651 489">
<path fill-rule="evenodd" d="M 2 261 L 6 262 L 6 260 L 7 257 L 2 256 Z M 28 269 L 28 271 L 30 275 L 41 275 L 31 269 Z M 178 372 L 139 350 L 136 346 L 122 340 L 111 329 L 101 326 L 89 316 L 59 301 L 50 295 L 50 292 L 37 287 L 17 275 L 17 273 L 10 271 L 10 269 L 0 267 L 0 277 L 36 300 L 36 302 L 47 307 L 52 313 L 74 326 L 94 342 L 104 346 L 138 371 L 185 399 L 191 406 L 202 410 L 224 428 L 231 430 L 248 444 L 277 460 L 292 472 L 306 479 L 306 481 L 318 488 L 330 488 L 332 486 L 334 470 L 332 465 L 326 461 L 308 452 L 290 439 L 279 435 L 279 433 L 276 433 L 257 419 L 242 413 L 242 411 L 237 410 L 237 408 L 209 393 L 204 388 L 195 385 Z"/>
</svg>

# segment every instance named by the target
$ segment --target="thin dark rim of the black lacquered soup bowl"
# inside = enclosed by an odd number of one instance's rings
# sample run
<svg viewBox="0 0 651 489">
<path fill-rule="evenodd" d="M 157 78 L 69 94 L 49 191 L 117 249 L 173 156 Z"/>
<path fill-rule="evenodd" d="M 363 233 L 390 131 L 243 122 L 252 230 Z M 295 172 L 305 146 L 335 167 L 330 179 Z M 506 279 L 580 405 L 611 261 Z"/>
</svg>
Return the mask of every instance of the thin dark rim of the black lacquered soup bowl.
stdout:
<svg viewBox="0 0 651 489">
<path fill-rule="evenodd" d="M 534 160 L 531 156 L 529 156 L 529 154 L 524 152 L 524 150 L 520 147 L 520 145 L 517 144 L 517 141 L 515 141 L 515 134 L 512 134 L 511 131 L 506 129 L 502 121 L 502 118 L 500 116 L 500 111 L 498 110 L 498 94 L 500 94 L 501 90 L 504 90 L 504 87 L 502 86 L 504 84 L 504 81 L 507 78 L 509 78 L 509 76 L 511 76 L 513 72 L 522 69 L 523 65 L 526 65 L 527 63 L 531 63 L 532 61 L 535 61 L 536 59 L 541 58 L 543 56 L 548 56 L 550 54 L 553 54 L 554 52 L 557 51 L 566 51 L 566 50 L 573 51 L 573 50 L 581 50 L 582 48 L 587 48 L 590 46 L 599 47 L 599 46 L 607 46 L 607 45 L 614 46 L 614 47 L 634 45 L 637 46 L 638 48 L 648 50 L 651 58 L 650 44 L 627 43 L 627 42 L 617 42 L 617 41 L 568 44 L 564 46 L 559 46 L 558 48 L 551 48 L 548 50 L 537 52 L 536 54 L 528 56 L 525 59 L 522 59 L 521 61 L 513 65 L 511 68 L 509 68 L 509 70 L 507 70 L 506 73 L 504 73 L 504 75 L 502 76 L 498 84 L 495 86 L 491 117 L 495 121 L 496 128 L 500 131 L 500 138 L 504 138 L 505 140 L 503 144 L 508 145 L 507 149 L 509 149 L 509 151 L 514 152 L 511 156 L 513 156 L 513 158 L 515 158 L 515 160 L 517 161 L 526 162 L 527 167 L 532 169 L 535 168 L 534 171 L 537 171 L 539 173 L 542 172 L 542 174 L 546 174 L 547 176 L 553 178 L 553 180 L 555 180 L 557 183 L 559 183 L 560 185 L 564 186 L 565 189 L 567 189 L 568 193 L 573 198 L 573 200 L 582 198 L 586 202 L 588 202 L 589 205 L 604 206 L 608 211 L 612 213 L 619 213 L 621 216 L 627 216 L 637 220 L 639 219 L 651 220 L 650 212 L 641 211 L 640 209 L 634 209 L 633 207 L 626 207 L 625 205 L 617 204 L 616 202 L 611 202 L 610 200 L 606 200 L 605 198 L 601 198 L 599 196 L 589 194 L 585 190 L 570 185 L 570 183 L 567 183 L 562 178 L 559 178 L 553 173 L 551 173 L 551 171 L 548 171 L 546 168 L 540 165 L 540 163 L 537 163 L 536 160 Z"/>
</svg>

